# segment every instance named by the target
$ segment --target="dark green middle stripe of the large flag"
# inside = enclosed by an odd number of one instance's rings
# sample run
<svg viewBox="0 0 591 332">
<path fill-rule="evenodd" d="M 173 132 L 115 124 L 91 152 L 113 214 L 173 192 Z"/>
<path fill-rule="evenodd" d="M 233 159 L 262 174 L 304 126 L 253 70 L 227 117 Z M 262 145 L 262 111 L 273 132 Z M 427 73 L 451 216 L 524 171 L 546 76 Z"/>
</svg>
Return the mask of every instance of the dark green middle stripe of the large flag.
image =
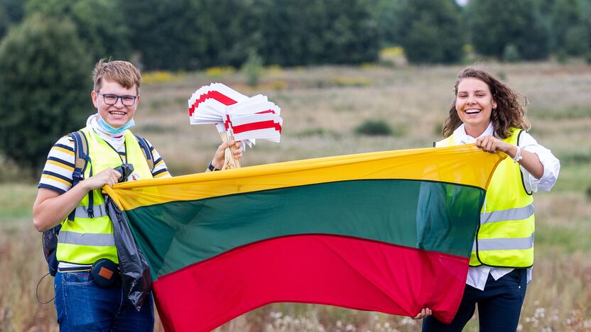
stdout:
<svg viewBox="0 0 591 332">
<path fill-rule="evenodd" d="M 156 279 L 242 245 L 308 233 L 469 258 L 484 194 L 441 182 L 356 180 L 141 206 L 126 216 Z"/>
</svg>

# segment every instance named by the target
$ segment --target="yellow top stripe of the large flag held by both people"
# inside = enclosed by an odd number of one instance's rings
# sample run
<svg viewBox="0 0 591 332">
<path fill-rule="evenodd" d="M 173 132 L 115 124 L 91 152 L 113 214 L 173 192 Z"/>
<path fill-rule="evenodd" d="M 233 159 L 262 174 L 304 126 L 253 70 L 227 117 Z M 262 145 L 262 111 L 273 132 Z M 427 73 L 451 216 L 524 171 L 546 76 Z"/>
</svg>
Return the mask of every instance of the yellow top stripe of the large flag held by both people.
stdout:
<svg viewBox="0 0 591 332">
<path fill-rule="evenodd" d="M 122 209 L 228 194 L 360 179 L 417 179 L 486 189 L 506 155 L 475 144 L 362 153 L 116 184 L 105 191 Z"/>
</svg>

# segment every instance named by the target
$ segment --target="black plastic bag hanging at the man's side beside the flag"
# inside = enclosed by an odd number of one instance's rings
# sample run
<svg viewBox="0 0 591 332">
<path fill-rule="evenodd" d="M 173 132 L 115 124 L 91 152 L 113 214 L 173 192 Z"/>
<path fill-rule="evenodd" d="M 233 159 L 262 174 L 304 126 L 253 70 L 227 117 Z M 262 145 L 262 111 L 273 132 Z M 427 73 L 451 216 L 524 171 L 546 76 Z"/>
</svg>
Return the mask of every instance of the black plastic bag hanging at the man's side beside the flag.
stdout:
<svg viewBox="0 0 591 332">
<path fill-rule="evenodd" d="M 150 266 L 136 245 L 134 236 L 131 235 L 131 229 L 129 229 L 119 206 L 109 196 L 105 201 L 107 213 L 113 223 L 113 235 L 119 256 L 119 270 L 121 270 L 124 296 L 139 311 L 152 286 Z"/>
</svg>

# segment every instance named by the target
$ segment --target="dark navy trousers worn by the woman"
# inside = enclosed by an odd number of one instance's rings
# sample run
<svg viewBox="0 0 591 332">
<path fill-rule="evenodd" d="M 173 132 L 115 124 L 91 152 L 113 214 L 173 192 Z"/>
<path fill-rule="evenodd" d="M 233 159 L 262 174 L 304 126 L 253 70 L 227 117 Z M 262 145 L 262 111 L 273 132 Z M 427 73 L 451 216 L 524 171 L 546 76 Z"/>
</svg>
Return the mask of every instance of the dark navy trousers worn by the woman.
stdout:
<svg viewBox="0 0 591 332">
<path fill-rule="evenodd" d="M 447 325 L 433 316 L 423 320 L 425 331 L 462 331 L 462 328 L 474 315 L 478 304 L 480 331 L 516 331 L 524 304 L 527 287 L 527 270 L 515 269 L 494 280 L 489 275 L 484 290 L 466 285 L 460 309 L 453 321 Z"/>
</svg>

